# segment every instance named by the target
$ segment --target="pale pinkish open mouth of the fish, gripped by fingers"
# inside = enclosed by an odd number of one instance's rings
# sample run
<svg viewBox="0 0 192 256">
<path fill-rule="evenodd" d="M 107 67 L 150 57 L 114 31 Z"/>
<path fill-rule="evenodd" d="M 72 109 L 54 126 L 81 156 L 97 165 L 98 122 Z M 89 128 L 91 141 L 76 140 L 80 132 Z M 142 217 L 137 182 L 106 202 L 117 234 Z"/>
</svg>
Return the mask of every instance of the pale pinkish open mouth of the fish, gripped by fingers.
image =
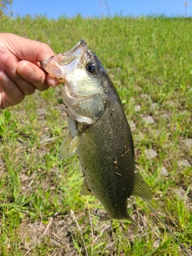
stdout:
<svg viewBox="0 0 192 256">
<path fill-rule="evenodd" d="M 72 72 L 78 65 L 82 54 L 87 50 L 86 42 L 80 40 L 76 46 L 64 54 L 54 55 L 41 62 L 42 69 L 58 80 Z"/>
</svg>

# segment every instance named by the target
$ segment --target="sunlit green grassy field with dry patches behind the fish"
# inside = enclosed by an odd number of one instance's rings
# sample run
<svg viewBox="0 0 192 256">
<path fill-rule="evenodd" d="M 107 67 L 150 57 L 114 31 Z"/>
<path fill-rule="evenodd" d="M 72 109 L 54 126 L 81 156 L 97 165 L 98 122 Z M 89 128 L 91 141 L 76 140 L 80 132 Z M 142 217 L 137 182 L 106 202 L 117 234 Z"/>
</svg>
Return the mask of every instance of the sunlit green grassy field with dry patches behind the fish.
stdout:
<svg viewBox="0 0 192 256">
<path fill-rule="evenodd" d="M 192 253 L 191 166 L 179 163 L 192 165 L 192 20 L 2 19 L 0 32 L 46 42 L 55 53 L 81 38 L 96 52 L 122 98 L 138 170 L 154 193 L 151 205 Z M 99 222 L 101 204 L 80 195 L 78 159 L 59 157 L 68 132 L 61 102 L 61 88 L 50 88 L 1 112 L 0 254 L 184 255 L 140 198 L 129 199 L 137 225 Z M 154 123 L 144 122 L 149 115 Z M 150 149 L 155 158 L 146 158 Z"/>
</svg>

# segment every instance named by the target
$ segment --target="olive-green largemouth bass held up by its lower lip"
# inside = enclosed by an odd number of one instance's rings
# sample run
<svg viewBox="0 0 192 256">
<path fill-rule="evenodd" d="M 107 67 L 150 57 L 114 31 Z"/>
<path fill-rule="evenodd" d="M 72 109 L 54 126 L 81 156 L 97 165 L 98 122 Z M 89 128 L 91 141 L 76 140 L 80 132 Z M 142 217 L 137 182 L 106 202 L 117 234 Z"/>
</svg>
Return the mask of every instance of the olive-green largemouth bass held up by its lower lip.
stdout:
<svg viewBox="0 0 192 256">
<path fill-rule="evenodd" d="M 41 62 L 58 79 L 70 133 L 61 145 L 63 158 L 78 155 L 82 194 L 94 195 L 107 219 L 130 219 L 127 199 L 152 198 L 136 171 L 134 141 L 118 91 L 97 55 L 81 40 L 71 50 Z"/>
</svg>

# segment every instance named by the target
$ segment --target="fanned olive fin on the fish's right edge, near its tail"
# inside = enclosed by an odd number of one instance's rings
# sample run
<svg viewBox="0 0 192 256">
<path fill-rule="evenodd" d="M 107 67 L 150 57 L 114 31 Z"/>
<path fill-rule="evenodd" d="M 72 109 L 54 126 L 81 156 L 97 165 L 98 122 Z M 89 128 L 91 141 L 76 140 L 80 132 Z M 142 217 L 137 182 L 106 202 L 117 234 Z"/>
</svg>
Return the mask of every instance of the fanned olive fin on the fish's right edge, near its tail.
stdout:
<svg viewBox="0 0 192 256">
<path fill-rule="evenodd" d="M 150 186 L 144 181 L 142 176 L 135 173 L 134 190 L 133 195 L 138 195 L 140 198 L 150 200 L 152 198 L 152 192 Z"/>
</svg>

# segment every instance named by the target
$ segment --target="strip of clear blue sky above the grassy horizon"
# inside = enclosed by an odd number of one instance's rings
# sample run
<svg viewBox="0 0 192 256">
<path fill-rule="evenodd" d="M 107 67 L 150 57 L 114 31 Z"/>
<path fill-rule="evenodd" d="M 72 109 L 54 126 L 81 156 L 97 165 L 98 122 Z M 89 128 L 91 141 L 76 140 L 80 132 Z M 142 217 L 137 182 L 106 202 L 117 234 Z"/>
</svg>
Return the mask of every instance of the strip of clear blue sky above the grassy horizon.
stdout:
<svg viewBox="0 0 192 256">
<path fill-rule="evenodd" d="M 191 17 L 192 0 L 13 0 L 12 11 L 14 17 L 41 14 L 54 19 L 62 15 L 72 17 L 77 14 L 83 17 L 101 17 L 103 14 L 112 16 L 164 14 L 169 17 L 184 15 Z"/>
</svg>

